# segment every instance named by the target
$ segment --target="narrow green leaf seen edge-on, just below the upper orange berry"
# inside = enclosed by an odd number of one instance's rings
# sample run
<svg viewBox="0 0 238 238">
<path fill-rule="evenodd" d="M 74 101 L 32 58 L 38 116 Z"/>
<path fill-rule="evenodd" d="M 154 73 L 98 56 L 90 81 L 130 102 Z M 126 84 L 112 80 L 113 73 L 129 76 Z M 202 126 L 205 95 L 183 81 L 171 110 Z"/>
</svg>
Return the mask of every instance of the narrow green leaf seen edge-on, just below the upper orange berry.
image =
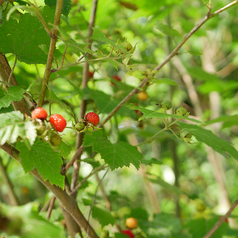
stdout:
<svg viewBox="0 0 238 238">
<path fill-rule="evenodd" d="M 177 115 L 174 115 L 174 114 L 167 114 L 167 113 L 160 113 L 160 112 L 155 112 L 155 111 L 151 111 L 151 110 L 148 110 L 148 109 L 145 109 L 145 108 L 142 108 L 142 107 L 138 107 L 134 104 L 130 104 L 128 106 L 130 109 L 133 109 L 133 110 L 139 110 L 143 113 L 143 117 L 142 118 L 146 118 L 146 119 L 151 119 L 151 118 L 162 118 L 162 119 L 167 119 L 169 117 L 173 117 L 173 118 L 176 118 L 176 119 L 185 119 L 185 120 L 189 120 L 189 121 L 193 121 L 193 122 L 196 122 L 196 123 L 202 123 L 201 121 L 198 121 L 196 119 L 193 119 L 193 118 L 189 118 L 189 117 L 184 117 L 184 116 L 177 116 Z"/>
</svg>

